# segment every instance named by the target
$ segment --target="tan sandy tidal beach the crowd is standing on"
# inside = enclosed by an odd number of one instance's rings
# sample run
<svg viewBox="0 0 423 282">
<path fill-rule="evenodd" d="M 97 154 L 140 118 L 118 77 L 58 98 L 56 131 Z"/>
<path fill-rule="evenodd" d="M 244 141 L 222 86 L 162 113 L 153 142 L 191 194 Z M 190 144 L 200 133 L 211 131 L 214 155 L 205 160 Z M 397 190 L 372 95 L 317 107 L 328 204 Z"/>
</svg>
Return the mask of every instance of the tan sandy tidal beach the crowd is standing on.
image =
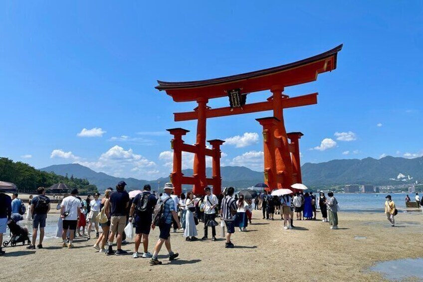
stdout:
<svg viewBox="0 0 423 282">
<path fill-rule="evenodd" d="M 94 239 L 78 238 L 71 250 L 62 249 L 58 239 L 46 240 L 43 250 L 8 247 L 0 259 L 0 280 L 58 281 L 66 273 L 72 281 L 383 281 L 381 274 L 367 269 L 380 261 L 422 256 L 420 213 L 399 214 L 395 228 L 383 213 L 339 213 L 339 230 L 320 221 L 294 221 L 297 228 L 286 231 L 280 220 L 262 220 L 260 212 L 254 211 L 248 232 L 233 235 L 235 249 L 224 249 L 223 239 L 185 242 L 182 232 L 172 233 L 173 250 L 180 257 L 169 262 L 162 249 L 162 266 L 131 255 L 96 253 Z M 201 223 L 198 231 L 202 237 Z M 158 231 L 150 238 L 152 252 Z M 133 243 L 123 249 L 132 253 Z"/>
</svg>

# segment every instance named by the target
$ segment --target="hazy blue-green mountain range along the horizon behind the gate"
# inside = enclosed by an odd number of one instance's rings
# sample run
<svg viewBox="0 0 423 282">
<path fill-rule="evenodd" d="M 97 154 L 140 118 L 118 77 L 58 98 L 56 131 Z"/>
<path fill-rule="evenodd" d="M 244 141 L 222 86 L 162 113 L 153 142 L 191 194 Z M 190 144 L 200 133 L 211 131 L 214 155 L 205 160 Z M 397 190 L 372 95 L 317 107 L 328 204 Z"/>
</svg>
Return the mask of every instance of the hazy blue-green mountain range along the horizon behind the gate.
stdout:
<svg viewBox="0 0 423 282">
<path fill-rule="evenodd" d="M 159 182 L 162 184 L 169 182 L 169 177 L 159 178 L 155 181 L 113 177 L 103 172 L 95 172 L 79 164 L 52 165 L 40 170 L 87 179 L 100 191 L 107 187 L 115 187 L 120 180 L 124 180 L 129 189 L 142 188 L 145 184 L 150 184 L 155 189 Z M 399 185 L 423 181 L 423 157 L 406 159 L 387 156 L 379 160 L 373 158 L 332 160 L 317 164 L 305 163 L 301 170 L 303 183 L 310 188 L 345 184 Z M 186 169 L 183 170 L 183 173 L 192 175 L 193 170 Z M 207 168 L 206 173 L 211 176 L 212 169 Z M 397 179 L 400 174 L 409 177 Z M 263 182 L 262 172 L 246 167 L 221 167 L 221 176 L 224 187 L 243 188 Z"/>
</svg>

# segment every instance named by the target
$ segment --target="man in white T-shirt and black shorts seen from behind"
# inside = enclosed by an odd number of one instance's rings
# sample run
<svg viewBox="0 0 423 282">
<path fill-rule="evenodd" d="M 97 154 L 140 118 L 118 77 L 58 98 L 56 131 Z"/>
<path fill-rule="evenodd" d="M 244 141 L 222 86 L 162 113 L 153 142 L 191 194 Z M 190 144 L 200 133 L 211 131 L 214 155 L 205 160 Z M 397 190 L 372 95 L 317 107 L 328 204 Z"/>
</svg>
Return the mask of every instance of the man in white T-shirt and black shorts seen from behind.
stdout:
<svg viewBox="0 0 423 282">
<path fill-rule="evenodd" d="M 78 189 L 74 188 L 70 192 L 70 196 L 64 198 L 60 204 L 60 217 L 63 219 L 62 247 L 66 247 L 66 235 L 69 230 L 69 244 L 67 245 L 69 249 L 73 248 L 72 243 L 82 206 L 76 195 L 78 195 Z"/>
</svg>

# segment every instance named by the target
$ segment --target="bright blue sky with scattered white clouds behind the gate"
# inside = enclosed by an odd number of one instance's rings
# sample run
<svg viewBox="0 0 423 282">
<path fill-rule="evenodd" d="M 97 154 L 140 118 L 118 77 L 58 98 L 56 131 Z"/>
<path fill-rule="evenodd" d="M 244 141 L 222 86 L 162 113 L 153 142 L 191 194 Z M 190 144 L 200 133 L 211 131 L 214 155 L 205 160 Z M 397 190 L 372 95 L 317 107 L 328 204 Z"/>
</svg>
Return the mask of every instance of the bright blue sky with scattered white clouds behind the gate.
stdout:
<svg viewBox="0 0 423 282">
<path fill-rule="evenodd" d="M 171 170 L 165 129 L 191 130 L 187 143 L 196 129 L 173 121 L 196 105 L 173 102 L 157 79 L 253 71 L 340 43 L 335 71 L 285 89 L 319 92 L 317 105 L 285 110 L 287 130 L 305 134 L 302 163 L 422 156 L 422 22 L 422 1 L 2 1 L 0 156 L 156 179 Z M 208 139 L 234 137 L 224 165 L 262 170 L 255 118 L 269 115 L 208 120 Z"/>
</svg>

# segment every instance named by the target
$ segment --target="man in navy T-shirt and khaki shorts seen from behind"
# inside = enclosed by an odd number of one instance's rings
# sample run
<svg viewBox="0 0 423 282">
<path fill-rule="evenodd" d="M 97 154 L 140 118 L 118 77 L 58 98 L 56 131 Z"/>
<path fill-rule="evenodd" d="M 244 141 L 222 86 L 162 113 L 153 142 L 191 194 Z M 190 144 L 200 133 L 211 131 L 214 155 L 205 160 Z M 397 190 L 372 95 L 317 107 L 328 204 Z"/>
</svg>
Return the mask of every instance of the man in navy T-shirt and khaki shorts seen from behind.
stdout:
<svg viewBox="0 0 423 282">
<path fill-rule="evenodd" d="M 122 234 L 126 226 L 126 214 L 129 206 L 129 194 L 125 191 L 125 181 L 119 181 L 116 191 L 110 194 L 110 199 L 106 203 L 106 209 L 110 208 L 110 235 L 106 256 L 126 255 L 128 252 L 122 250 Z M 113 241 L 116 236 L 116 253 L 113 251 Z"/>
</svg>

